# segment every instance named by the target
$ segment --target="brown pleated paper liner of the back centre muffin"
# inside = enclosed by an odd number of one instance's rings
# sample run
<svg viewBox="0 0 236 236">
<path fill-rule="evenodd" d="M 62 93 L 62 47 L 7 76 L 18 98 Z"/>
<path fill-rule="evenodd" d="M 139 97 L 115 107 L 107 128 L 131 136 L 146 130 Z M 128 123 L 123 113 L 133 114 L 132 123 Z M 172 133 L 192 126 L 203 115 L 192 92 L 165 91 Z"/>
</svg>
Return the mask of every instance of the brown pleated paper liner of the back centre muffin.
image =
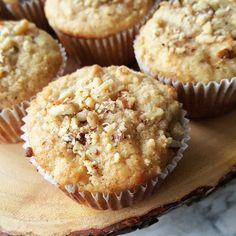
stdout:
<svg viewBox="0 0 236 236">
<path fill-rule="evenodd" d="M 68 54 L 80 65 L 129 65 L 134 61 L 133 40 L 139 29 L 153 15 L 160 0 L 132 28 L 104 38 L 82 38 L 68 35 L 56 28 L 55 33 Z"/>
</svg>

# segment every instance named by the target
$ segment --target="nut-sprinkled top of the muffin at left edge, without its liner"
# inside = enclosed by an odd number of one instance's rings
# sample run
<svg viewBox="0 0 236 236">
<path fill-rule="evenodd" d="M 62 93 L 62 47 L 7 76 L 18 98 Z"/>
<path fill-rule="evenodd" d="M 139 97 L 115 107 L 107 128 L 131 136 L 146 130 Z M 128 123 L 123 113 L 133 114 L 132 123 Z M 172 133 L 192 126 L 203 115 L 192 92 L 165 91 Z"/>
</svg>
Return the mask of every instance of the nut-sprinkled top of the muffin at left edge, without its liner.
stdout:
<svg viewBox="0 0 236 236">
<path fill-rule="evenodd" d="M 0 21 L 0 109 L 28 100 L 62 63 L 57 42 L 27 20 Z"/>
</svg>

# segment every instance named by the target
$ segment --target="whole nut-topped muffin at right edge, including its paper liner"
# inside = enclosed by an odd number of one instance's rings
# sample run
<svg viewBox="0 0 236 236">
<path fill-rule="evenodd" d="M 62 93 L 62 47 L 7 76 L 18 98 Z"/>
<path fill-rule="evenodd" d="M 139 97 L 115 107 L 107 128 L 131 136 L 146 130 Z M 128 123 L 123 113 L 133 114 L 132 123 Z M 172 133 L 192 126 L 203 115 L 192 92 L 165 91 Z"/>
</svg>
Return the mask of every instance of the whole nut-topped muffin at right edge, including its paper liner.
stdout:
<svg viewBox="0 0 236 236">
<path fill-rule="evenodd" d="M 236 102 L 236 2 L 162 2 L 134 43 L 142 71 L 174 86 L 191 117 Z"/>
</svg>

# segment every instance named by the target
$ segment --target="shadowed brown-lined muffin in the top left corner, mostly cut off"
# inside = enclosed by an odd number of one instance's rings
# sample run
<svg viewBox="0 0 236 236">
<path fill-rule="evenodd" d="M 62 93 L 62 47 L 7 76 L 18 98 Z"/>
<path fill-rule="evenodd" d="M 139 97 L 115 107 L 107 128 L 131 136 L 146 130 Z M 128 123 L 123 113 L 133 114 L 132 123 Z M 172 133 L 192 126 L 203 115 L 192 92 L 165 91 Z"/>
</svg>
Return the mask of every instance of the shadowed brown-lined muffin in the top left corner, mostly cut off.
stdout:
<svg viewBox="0 0 236 236">
<path fill-rule="evenodd" d="M 16 19 L 27 19 L 37 27 L 52 33 L 44 13 L 45 0 L 3 0 Z"/>
</svg>

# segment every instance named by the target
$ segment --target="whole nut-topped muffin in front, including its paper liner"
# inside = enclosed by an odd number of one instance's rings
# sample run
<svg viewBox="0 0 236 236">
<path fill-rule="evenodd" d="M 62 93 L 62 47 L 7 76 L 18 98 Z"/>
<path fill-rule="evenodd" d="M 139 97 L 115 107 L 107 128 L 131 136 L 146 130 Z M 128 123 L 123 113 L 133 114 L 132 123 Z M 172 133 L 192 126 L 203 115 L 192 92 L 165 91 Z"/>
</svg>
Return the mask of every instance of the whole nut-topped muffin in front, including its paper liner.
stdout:
<svg viewBox="0 0 236 236">
<path fill-rule="evenodd" d="M 186 148 L 175 91 L 125 66 L 84 67 L 31 102 L 27 156 L 71 198 L 120 209 L 152 194 Z"/>
</svg>

